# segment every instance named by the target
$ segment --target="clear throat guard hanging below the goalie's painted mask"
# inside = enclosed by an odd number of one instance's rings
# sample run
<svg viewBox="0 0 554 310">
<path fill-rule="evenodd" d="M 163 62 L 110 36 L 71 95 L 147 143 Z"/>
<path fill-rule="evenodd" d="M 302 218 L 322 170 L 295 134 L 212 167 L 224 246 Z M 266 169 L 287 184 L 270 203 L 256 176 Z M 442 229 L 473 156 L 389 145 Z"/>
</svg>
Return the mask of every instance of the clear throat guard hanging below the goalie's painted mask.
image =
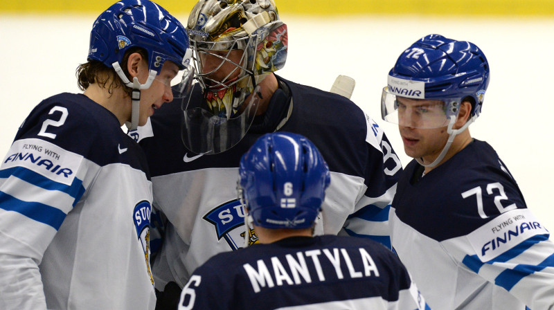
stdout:
<svg viewBox="0 0 554 310">
<path fill-rule="evenodd" d="M 244 138 L 256 116 L 260 98 L 260 86 L 251 93 L 240 107 L 240 113 L 231 118 L 213 114 L 199 100 L 183 103 L 184 126 L 181 138 L 187 149 L 196 154 L 218 154 L 231 149 Z"/>
</svg>

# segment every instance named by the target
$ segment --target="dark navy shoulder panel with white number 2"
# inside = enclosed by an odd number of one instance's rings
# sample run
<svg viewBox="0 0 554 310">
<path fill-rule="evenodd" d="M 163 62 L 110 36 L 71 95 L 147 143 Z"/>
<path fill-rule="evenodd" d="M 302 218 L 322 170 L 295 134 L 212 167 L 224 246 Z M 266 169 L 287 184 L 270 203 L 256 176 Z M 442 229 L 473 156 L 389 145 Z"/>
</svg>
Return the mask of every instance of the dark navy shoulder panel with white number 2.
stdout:
<svg viewBox="0 0 554 310">
<path fill-rule="evenodd" d="M 98 165 L 125 163 L 143 171 L 145 158 L 116 116 L 83 94 L 60 93 L 40 102 L 15 140 L 39 138 Z"/>
</svg>

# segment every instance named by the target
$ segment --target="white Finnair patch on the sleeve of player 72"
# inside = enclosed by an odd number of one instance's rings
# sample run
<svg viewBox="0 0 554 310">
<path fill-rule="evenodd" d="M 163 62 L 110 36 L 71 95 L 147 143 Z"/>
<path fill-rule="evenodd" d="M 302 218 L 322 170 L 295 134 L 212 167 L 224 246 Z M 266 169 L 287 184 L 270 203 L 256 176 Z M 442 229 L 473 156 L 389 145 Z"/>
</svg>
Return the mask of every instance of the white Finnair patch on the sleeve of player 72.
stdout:
<svg viewBox="0 0 554 310">
<path fill-rule="evenodd" d="M 488 262 L 536 235 L 548 235 L 548 230 L 528 209 L 516 209 L 474 230 L 467 239 L 481 262 Z"/>
</svg>

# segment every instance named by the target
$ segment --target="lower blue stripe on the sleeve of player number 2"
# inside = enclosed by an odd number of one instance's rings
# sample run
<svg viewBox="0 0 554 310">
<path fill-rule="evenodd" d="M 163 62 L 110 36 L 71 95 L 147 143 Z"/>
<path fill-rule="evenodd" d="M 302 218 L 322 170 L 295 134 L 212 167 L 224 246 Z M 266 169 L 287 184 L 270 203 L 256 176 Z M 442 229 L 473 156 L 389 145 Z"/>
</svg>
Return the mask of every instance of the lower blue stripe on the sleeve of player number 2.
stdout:
<svg viewBox="0 0 554 310">
<path fill-rule="evenodd" d="M 0 208 L 21 213 L 29 219 L 52 226 L 55 230 L 60 229 L 66 217 L 66 214 L 60 209 L 44 203 L 22 201 L 5 192 L 0 192 Z"/>
</svg>

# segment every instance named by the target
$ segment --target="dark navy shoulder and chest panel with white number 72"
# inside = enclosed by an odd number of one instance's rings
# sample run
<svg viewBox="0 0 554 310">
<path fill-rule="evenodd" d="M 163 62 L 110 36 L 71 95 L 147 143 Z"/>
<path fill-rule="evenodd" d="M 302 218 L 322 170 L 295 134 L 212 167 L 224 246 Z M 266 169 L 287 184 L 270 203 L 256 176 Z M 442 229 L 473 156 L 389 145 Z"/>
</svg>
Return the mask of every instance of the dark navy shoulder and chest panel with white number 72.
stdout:
<svg viewBox="0 0 554 310">
<path fill-rule="evenodd" d="M 488 143 L 474 140 L 461 152 L 420 177 L 411 161 L 398 181 L 397 217 L 438 241 L 460 237 L 501 213 L 526 208 L 506 165 Z"/>
</svg>

